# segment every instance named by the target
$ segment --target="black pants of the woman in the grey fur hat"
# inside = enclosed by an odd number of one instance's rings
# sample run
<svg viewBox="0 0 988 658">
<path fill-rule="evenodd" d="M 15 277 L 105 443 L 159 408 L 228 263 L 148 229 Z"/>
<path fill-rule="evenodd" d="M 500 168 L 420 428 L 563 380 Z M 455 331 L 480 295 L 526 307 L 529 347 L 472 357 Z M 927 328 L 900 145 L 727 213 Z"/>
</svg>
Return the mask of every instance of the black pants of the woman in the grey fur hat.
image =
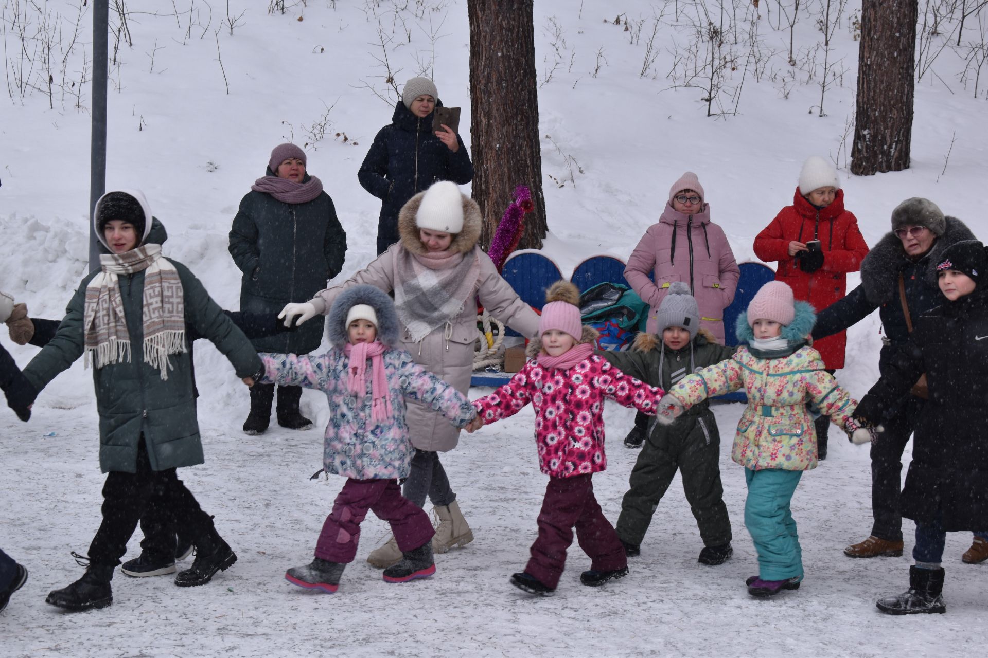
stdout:
<svg viewBox="0 0 988 658">
<path fill-rule="evenodd" d="M 906 396 L 882 420 L 885 431 L 871 444 L 871 534 L 890 542 L 902 539 L 899 493 L 902 489 L 902 452 L 926 403 Z"/>
</svg>

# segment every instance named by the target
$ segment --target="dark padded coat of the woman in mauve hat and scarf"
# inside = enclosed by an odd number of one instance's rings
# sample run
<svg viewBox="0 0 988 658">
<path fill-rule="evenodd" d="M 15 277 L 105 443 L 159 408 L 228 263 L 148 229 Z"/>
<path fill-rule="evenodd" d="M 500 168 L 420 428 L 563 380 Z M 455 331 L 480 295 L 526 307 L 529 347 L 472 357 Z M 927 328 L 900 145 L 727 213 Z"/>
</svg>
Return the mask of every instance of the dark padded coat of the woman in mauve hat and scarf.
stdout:
<svg viewBox="0 0 988 658">
<path fill-rule="evenodd" d="M 268 168 L 268 176 L 274 176 Z M 309 181 L 308 174 L 302 183 Z M 251 190 L 240 201 L 230 229 L 230 256 L 243 272 L 240 310 L 278 314 L 288 302 L 307 302 L 340 273 L 347 234 L 325 191 L 305 203 L 285 203 Z M 305 354 L 322 341 L 323 323 L 254 338 L 258 351 Z"/>
</svg>

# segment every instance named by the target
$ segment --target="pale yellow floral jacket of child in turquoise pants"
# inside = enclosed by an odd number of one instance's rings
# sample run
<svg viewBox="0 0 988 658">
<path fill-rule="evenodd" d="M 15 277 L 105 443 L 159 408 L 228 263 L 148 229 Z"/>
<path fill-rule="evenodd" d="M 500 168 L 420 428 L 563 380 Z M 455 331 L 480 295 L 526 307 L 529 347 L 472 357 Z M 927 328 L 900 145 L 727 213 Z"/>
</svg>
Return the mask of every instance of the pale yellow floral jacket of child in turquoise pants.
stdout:
<svg viewBox="0 0 988 658">
<path fill-rule="evenodd" d="M 748 406 L 738 422 L 731 459 L 753 471 L 816 468 L 816 431 L 806 402 L 813 402 L 841 427 L 858 405 L 824 370 L 819 352 L 812 347 L 763 359 L 742 346 L 730 359 L 683 378 L 669 393 L 689 407 L 742 387 Z"/>
</svg>

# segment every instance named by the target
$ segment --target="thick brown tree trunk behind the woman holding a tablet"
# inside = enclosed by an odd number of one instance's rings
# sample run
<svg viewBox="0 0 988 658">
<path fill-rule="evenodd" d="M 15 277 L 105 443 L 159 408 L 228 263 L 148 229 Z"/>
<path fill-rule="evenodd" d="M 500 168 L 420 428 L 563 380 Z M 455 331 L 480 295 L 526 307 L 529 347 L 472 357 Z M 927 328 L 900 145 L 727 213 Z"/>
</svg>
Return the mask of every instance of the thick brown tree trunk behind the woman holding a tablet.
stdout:
<svg viewBox="0 0 988 658">
<path fill-rule="evenodd" d="M 532 189 L 519 249 L 539 249 L 545 199 L 538 135 L 533 0 L 468 0 L 470 143 L 473 198 L 480 205 L 487 249 L 516 185 Z"/>
</svg>

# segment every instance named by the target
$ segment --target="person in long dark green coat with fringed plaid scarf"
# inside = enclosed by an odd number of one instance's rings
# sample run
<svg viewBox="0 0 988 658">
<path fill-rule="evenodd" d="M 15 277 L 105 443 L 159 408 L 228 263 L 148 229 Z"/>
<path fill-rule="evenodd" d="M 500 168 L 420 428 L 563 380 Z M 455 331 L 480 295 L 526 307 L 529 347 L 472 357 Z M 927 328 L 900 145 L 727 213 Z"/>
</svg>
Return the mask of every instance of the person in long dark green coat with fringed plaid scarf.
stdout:
<svg viewBox="0 0 988 658">
<path fill-rule="evenodd" d="M 139 191 L 111 191 L 96 204 L 97 235 L 111 254 L 82 279 L 54 338 L 24 369 L 34 393 L 85 352 L 100 414 L 103 522 L 85 575 L 48 594 L 67 610 L 113 603 L 110 580 L 145 509 L 168 510 L 193 538 L 196 560 L 175 578 L 204 585 L 237 557 L 176 469 L 202 464 L 186 325 L 209 338 L 245 383 L 264 366 L 243 332 L 180 262 L 144 244 L 152 217 Z"/>
</svg>

